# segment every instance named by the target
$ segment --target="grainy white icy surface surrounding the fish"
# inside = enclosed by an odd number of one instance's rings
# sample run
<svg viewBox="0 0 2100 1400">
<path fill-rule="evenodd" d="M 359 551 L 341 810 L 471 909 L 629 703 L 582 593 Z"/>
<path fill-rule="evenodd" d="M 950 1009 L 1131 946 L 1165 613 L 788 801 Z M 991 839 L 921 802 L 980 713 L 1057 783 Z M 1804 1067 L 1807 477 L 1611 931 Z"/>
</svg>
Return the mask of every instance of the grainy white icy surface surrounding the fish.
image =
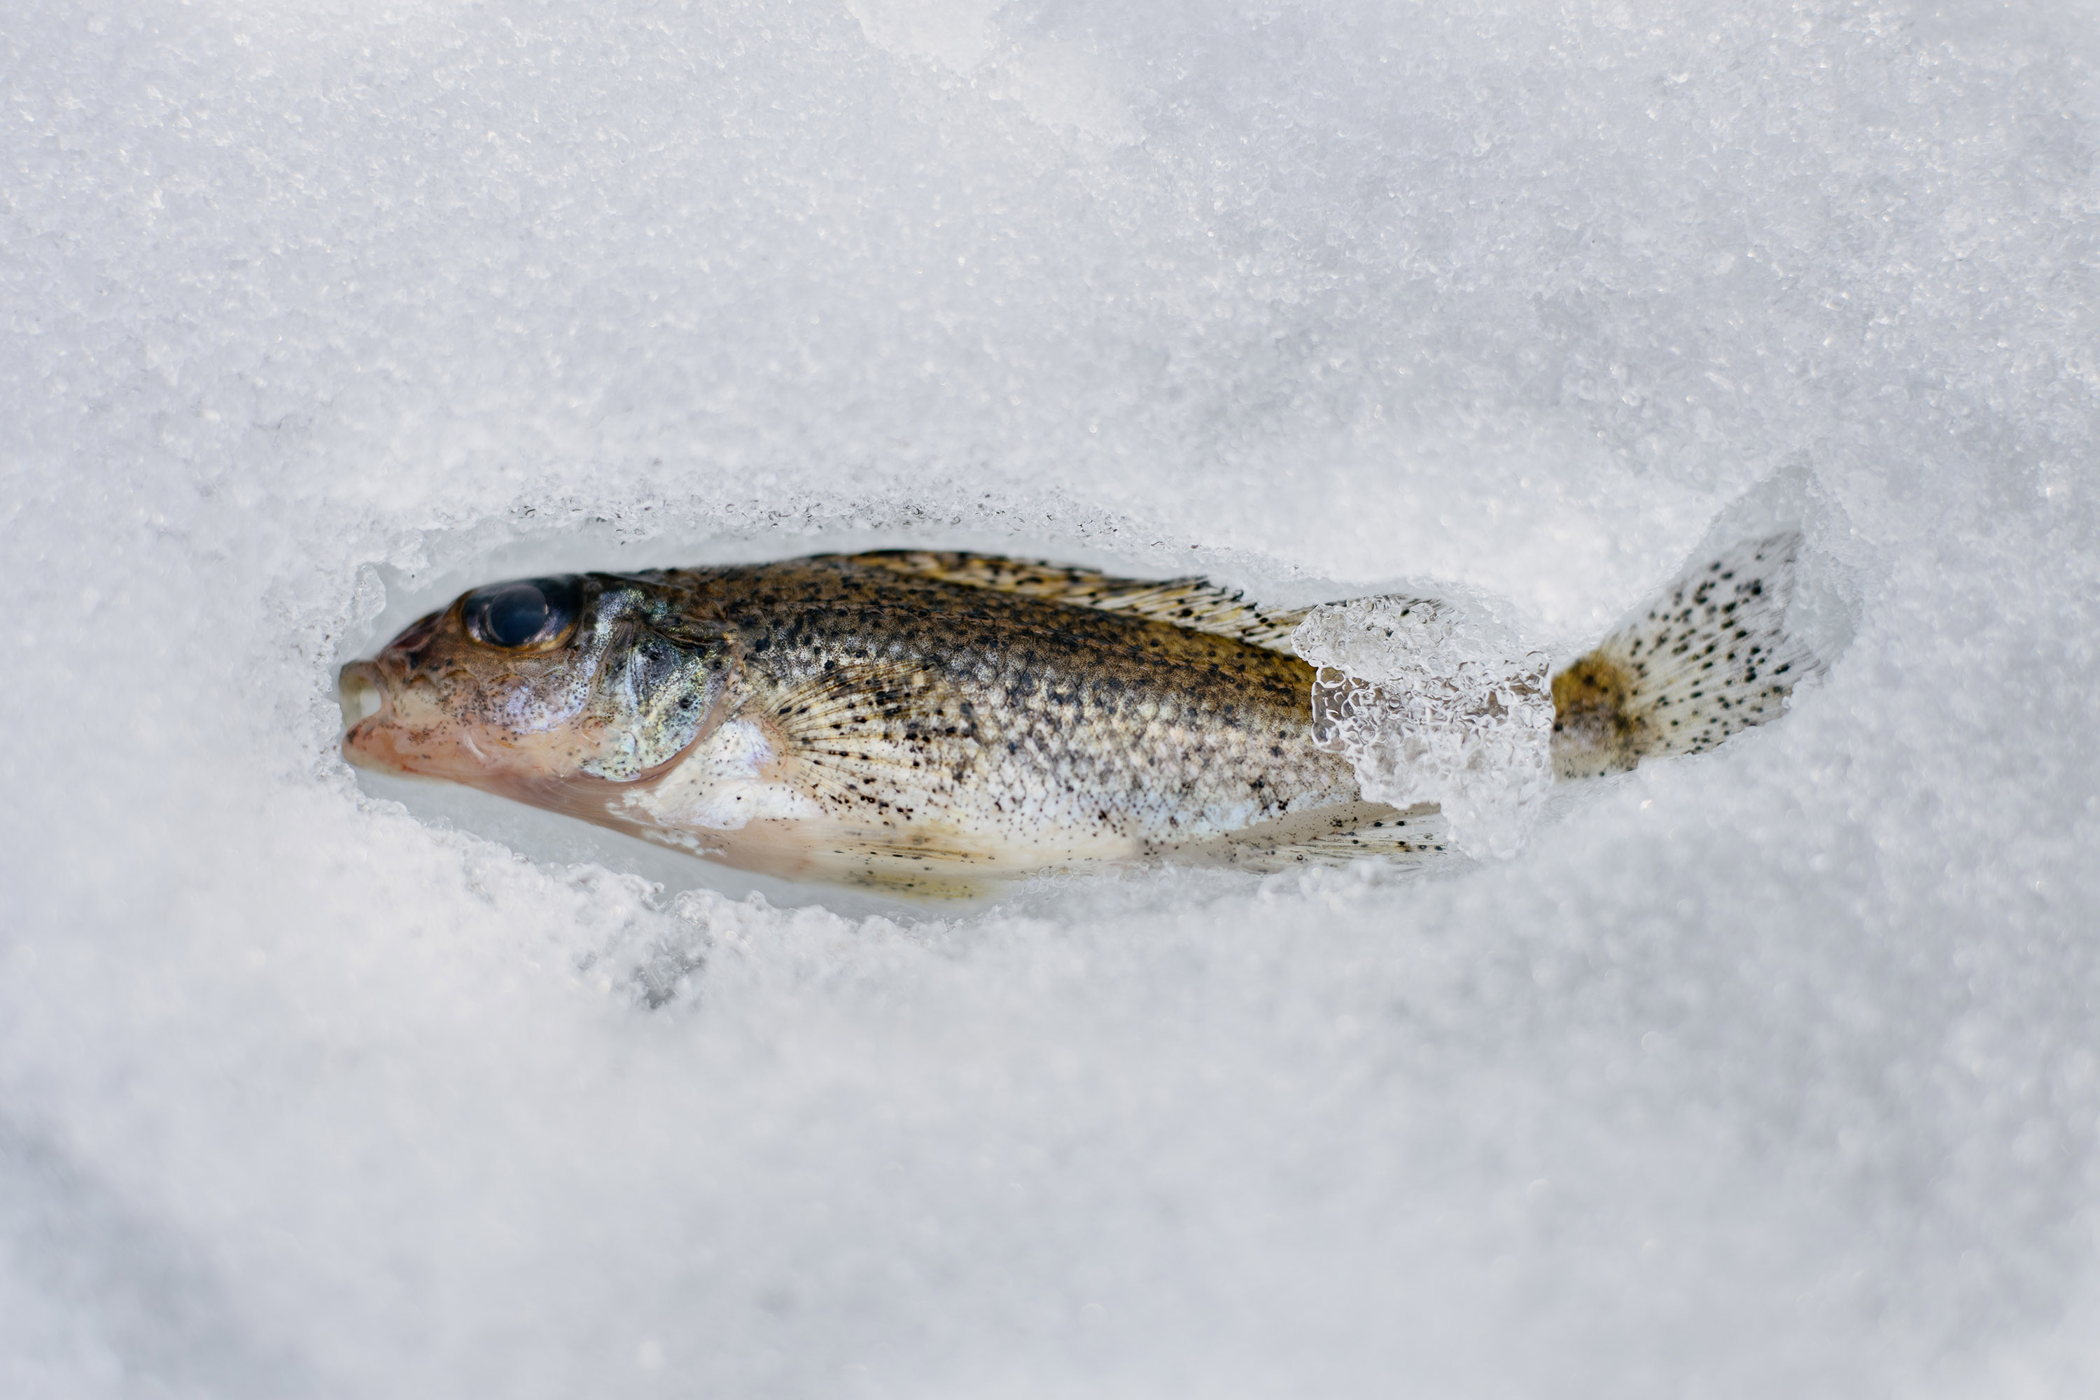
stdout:
<svg viewBox="0 0 2100 1400">
<path fill-rule="evenodd" d="M 2092 17 L 1126 8 L 10 17 L 0 1390 L 2100 1383 Z M 1415 879 L 750 905 L 334 756 L 487 577 L 1567 659 L 1785 525 L 1781 724 Z"/>
</svg>

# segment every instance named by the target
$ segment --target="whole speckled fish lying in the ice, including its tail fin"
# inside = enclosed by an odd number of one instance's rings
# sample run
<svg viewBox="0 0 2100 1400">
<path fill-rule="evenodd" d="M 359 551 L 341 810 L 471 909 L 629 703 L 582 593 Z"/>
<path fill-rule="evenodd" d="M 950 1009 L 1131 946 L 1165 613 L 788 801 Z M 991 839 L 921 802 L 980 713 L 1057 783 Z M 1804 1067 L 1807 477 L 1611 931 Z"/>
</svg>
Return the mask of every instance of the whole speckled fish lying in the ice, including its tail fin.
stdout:
<svg viewBox="0 0 2100 1400">
<path fill-rule="evenodd" d="M 1554 678 L 1560 777 L 1707 749 L 1812 661 L 1798 539 L 1680 577 Z M 743 869 L 966 894 L 1174 856 L 1277 869 L 1443 850 L 1317 733 L 1306 613 L 1203 579 L 878 552 L 464 594 L 346 665 L 344 754 Z"/>
</svg>

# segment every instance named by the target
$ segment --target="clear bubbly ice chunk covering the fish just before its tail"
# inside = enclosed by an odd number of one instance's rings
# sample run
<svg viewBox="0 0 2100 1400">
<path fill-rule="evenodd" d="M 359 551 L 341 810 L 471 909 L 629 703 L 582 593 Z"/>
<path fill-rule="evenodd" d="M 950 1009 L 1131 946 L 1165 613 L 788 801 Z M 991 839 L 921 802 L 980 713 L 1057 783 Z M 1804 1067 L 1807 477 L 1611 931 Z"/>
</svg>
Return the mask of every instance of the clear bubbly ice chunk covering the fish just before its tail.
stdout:
<svg viewBox="0 0 2100 1400">
<path fill-rule="evenodd" d="M 1317 607 L 1292 649 L 1317 667 L 1315 739 L 1348 756 L 1365 798 L 1434 802 L 1466 854 L 1516 852 L 1552 783 L 1546 653 L 1430 598 Z"/>
</svg>

